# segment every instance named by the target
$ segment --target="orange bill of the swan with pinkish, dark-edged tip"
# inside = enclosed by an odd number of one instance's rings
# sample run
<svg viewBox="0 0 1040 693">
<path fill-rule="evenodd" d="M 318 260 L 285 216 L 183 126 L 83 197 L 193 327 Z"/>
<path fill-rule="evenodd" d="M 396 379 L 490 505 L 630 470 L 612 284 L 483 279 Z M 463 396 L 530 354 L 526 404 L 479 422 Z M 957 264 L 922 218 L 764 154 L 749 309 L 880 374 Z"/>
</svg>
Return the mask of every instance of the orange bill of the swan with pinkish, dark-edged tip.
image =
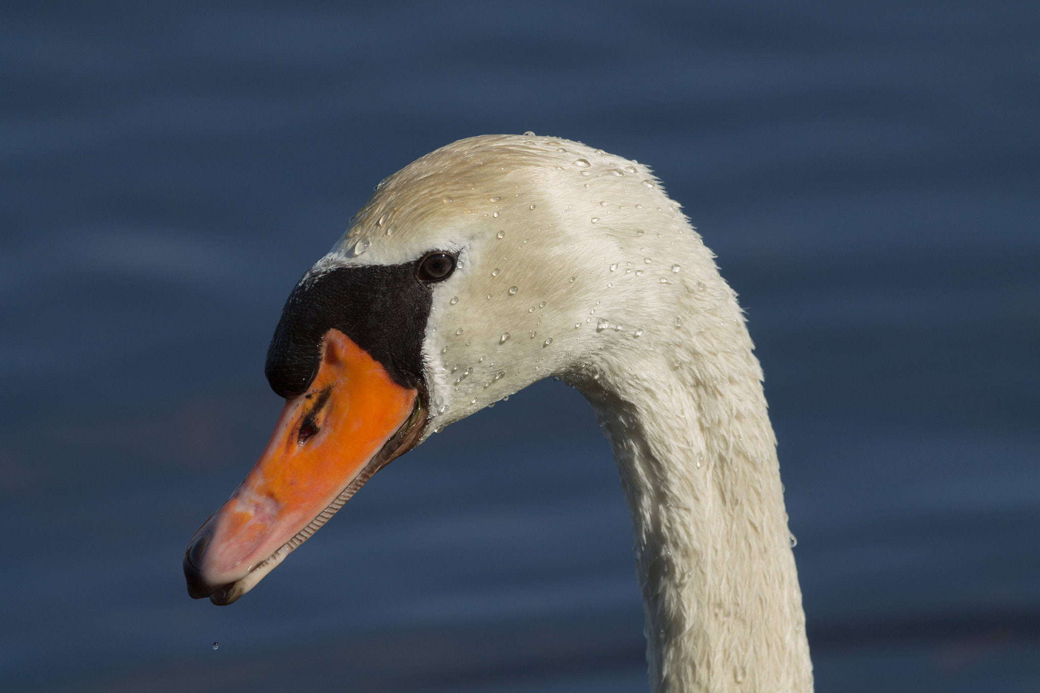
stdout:
<svg viewBox="0 0 1040 693">
<path fill-rule="evenodd" d="M 231 604 L 326 523 L 375 472 L 415 446 L 415 390 L 337 329 L 326 332 L 310 389 L 286 400 L 241 485 L 191 538 L 188 594 Z"/>
</svg>

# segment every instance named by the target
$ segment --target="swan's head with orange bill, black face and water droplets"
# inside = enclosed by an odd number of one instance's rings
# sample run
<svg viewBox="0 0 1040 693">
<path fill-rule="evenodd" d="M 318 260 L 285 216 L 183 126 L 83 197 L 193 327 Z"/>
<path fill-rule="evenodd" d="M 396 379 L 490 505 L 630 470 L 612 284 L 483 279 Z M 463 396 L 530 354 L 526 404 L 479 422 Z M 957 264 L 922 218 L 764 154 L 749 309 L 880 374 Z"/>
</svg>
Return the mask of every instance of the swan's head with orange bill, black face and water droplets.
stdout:
<svg viewBox="0 0 1040 693">
<path fill-rule="evenodd" d="M 266 365 L 286 405 L 192 537 L 189 593 L 234 602 L 382 465 L 452 422 L 546 376 L 583 390 L 625 377 L 677 339 L 679 294 L 718 282 L 634 161 L 505 135 L 418 159 L 376 187 L 286 302 Z"/>
</svg>

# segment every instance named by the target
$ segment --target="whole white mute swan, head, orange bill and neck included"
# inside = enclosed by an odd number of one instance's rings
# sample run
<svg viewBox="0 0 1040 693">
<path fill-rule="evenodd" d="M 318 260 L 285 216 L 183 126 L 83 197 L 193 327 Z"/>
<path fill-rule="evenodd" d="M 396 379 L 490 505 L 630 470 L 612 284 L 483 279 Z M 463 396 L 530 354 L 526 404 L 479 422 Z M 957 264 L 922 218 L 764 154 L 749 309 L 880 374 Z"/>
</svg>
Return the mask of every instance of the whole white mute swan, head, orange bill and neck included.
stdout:
<svg viewBox="0 0 1040 693">
<path fill-rule="evenodd" d="M 185 552 L 230 604 L 433 431 L 554 375 L 592 403 L 634 533 L 655 692 L 811 691 L 762 374 L 736 297 L 635 161 L 532 133 L 381 183 L 289 296 L 285 408 Z"/>
</svg>

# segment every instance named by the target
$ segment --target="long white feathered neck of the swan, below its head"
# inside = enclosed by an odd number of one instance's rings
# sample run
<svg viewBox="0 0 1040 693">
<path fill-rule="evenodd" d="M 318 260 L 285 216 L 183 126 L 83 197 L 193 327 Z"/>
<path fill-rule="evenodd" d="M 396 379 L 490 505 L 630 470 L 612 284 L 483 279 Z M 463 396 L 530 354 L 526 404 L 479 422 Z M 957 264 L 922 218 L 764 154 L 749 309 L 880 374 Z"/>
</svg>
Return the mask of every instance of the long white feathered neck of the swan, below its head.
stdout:
<svg viewBox="0 0 1040 693">
<path fill-rule="evenodd" d="M 761 371 L 744 321 L 720 329 L 647 344 L 639 372 L 603 364 L 579 384 L 632 518 L 651 689 L 811 691 Z"/>
</svg>

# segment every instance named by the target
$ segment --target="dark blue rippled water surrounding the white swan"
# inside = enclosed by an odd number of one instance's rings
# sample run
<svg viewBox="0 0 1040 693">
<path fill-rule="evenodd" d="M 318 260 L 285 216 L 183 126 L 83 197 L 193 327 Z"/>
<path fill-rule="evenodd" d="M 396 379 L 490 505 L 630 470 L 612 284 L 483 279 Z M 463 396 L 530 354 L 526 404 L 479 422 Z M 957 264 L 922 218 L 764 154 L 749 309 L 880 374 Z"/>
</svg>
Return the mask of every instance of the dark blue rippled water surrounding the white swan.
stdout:
<svg viewBox="0 0 1040 693">
<path fill-rule="evenodd" d="M 383 177 L 534 130 L 654 166 L 740 293 L 817 690 L 1040 690 L 1038 35 L 1023 2 L 5 2 L 2 688 L 646 690 L 558 383 L 233 607 L 181 578 L 295 279 Z"/>
</svg>

